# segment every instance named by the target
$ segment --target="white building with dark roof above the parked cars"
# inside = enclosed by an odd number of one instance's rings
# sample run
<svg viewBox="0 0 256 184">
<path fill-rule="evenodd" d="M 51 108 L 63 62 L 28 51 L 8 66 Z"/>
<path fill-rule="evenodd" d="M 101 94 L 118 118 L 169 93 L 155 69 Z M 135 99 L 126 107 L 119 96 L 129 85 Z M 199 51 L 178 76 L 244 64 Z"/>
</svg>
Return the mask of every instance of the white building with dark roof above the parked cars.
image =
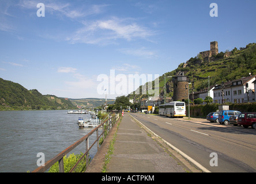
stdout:
<svg viewBox="0 0 256 184">
<path fill-rule="evenodd" d="M 213 89 L 213 103 L 223 104 L 225 102 L 244 103 L 255 102 L 255 76 L 246 76 L 234 81 L 216 85 Z"/>
</svg>

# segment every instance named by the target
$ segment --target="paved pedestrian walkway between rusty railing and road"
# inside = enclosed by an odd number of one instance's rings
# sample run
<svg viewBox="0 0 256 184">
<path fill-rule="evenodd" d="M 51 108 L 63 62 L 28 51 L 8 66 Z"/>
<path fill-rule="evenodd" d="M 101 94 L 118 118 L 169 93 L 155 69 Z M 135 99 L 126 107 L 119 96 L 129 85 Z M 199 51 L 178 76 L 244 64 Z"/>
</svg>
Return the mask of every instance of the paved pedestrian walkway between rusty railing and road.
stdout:
<svg viewBox="0 0 256 184">
<path fill-rule="evenodd" d="M 186 168 L 145 132 L 129 114 L 119 125 L 108 173 L 185 173 Z"/>
</svg>

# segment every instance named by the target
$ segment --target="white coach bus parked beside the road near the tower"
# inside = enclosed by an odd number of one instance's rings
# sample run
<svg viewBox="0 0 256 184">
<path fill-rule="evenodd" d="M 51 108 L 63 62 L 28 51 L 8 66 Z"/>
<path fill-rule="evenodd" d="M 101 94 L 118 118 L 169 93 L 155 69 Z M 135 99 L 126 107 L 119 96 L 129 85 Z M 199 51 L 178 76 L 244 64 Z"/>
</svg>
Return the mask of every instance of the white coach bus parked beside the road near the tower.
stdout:
<svg viewBox="0 0 256 184">
<path fill-rule="evenodd" d="M 186 116 L 185 102 L 170 102 L 159 106 L 159 115 L 169 117 L 183 117 Z"/>
</svg>

